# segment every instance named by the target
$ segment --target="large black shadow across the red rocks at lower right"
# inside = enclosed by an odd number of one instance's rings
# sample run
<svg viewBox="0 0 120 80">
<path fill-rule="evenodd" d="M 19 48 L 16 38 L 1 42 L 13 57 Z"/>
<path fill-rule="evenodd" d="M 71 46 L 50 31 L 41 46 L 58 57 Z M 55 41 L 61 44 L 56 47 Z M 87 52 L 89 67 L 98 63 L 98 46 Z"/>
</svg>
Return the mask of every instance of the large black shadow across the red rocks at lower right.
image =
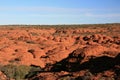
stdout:
<svg viewBox="0 0 120 80">
<path fill-rule="evenodd" d="M 88 69 L 91 73 L 99 73 L 113 69 L 115 65 L 120 65 L 120 54 L 118 54 L 118 56 L 116 56 L 115 58 L 108 56 L 97 57 L 94 59 L 90 59 L 89 61 L 84 62 L 82 64 L 80 63 L 81 59 L 79 58 L 73 58 L 73 62 L 70 62 L 69 61 L 70 59 L 71 57 L 69 56 L 64 60 L 57 62 L 56 64 L 53 65 L 50 71 L 76 72 L 76 71 Z"/>
</svg>

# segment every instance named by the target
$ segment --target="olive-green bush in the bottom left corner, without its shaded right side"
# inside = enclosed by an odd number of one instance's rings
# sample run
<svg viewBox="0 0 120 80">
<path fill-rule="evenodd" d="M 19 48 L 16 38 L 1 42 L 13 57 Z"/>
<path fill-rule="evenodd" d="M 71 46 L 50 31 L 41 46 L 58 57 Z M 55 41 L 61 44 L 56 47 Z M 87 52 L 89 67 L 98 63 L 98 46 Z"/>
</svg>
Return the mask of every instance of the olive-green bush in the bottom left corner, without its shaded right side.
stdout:
<svg viewBox="0 0 120 80">
<path fill-rule="evenodd" d="M 15 80 L 23 80 L 25 76 L 29 73 L 30 67 L 25 65 L 5 65 L 0 68 L 0 70 L 8 77 Z"/>
</svg>

